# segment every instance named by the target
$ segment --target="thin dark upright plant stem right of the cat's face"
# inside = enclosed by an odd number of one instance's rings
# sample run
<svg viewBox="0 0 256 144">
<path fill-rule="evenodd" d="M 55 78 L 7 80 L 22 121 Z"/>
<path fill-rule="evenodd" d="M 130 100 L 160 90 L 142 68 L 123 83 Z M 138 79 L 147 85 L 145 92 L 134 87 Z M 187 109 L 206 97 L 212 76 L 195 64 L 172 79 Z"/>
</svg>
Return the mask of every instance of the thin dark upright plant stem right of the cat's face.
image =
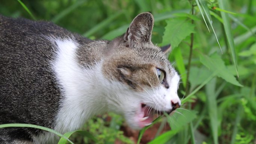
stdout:
<svg viewBox="0 0 256 144">
<path fill-rule="evenodd" d="M 192 15 L 194 15 L 194 5 L 192 5 Z M 194 20 L 191 20 L 191 23 L 194 24 Z M 189 51 L 189 62 L 188 62 L 188 73 L 187 73 L 187 80 L 186 80 L 186 89 L 185 92 L 188 92 L 189 86 L 188 86 L 188 81 L 189 81 L 189 71 L 190 71 L 190 65 L 191 65 L 191 59 L 192 59 L 192 50 L 193 50 L 193 42 L 194 42 L 194 34 L 191 33 L 191 39 L 190 39 L 190 51 Z"/>
</svg>

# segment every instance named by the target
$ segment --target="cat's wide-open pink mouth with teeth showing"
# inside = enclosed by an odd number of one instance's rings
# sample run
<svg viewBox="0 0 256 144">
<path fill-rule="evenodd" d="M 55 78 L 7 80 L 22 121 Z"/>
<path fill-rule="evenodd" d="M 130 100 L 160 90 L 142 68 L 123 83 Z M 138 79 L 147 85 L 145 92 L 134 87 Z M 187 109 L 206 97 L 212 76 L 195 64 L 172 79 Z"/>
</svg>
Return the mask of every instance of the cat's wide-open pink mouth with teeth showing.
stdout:
<svg viewBox="0 0 256 144">
<path fill-rule="evenodd" d="M 138 112 L 138 118 L 139 118 L 138 124 L 140 128 L 148 126 L 153 122 L 155 115 L 161 116 L 162 114 L 164 114 L 164 112 L 167 114 L 170 114 L 175 109 L 176 108 L 173 108 L 172 110 L 169 110 L 169 111 L 161 111 L 161 110 L 156 110 L 150 107 L 149 105 L 141 103 L 141 108 L 140 108 L 140 111 Z"/>
</svg>

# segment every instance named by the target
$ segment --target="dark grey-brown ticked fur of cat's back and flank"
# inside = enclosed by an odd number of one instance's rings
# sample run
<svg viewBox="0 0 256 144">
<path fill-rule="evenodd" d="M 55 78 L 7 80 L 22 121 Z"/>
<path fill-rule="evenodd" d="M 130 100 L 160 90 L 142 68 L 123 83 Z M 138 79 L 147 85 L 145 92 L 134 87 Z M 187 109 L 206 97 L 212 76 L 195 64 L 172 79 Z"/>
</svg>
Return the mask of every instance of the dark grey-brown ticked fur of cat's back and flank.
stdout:
<svg viewBox="0 0 256 144">
<path fill-rule="evenodd" d="M 57 49 L 49 37 L 68 36 L 51 22 L 0 15 L 0 124 L 52 127 L 61 91 L 51 65 Z"/>
</svg>

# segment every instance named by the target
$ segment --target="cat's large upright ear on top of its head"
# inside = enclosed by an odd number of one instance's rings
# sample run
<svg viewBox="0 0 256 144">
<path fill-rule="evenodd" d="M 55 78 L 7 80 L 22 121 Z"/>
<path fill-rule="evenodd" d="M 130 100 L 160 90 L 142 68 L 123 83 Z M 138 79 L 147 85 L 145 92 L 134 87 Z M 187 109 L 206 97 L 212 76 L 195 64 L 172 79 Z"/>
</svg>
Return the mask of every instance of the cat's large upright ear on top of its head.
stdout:
<svg viewBox="0 0 256 144">
<path fill-rule="evenodd" d="M 151 42 L 151 33 L 153 29 L 154 18 L 149 12 L 140 13 L 131 22 L 127 29 L 125 42 L 147 43 Z"/>
</svg>

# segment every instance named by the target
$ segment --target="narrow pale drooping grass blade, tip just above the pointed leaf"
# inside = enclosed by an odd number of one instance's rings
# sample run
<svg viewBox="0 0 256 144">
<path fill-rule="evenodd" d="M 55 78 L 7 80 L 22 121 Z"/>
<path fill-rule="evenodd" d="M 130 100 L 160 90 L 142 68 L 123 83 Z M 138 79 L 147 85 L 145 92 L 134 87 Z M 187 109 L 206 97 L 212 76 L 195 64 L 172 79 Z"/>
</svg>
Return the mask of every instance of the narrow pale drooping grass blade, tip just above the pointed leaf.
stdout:
<svg viewBox="0 0 256 144">
<path fill-rule="evenodd" d="M 208 8 L 208 6 L 207 6 L 207 1 L 205 1 L 205 0 L 199 0 L 199 1 L 200 1 L 200 3 L 202 4 L 202 10 L 203 10 L 204 13 L 205 13 L 205 16 L 206 16 L 206 18 L 207 18 L 207 21 L 209 22 L 209 24 L 210 24 L 210 26 L 211 26 L 211 30 L 213 30 L 213 34 L 214 34 L 214 36 L 215 36 L 215 39 L 217 40 L 217 43 L 218 43 L 218 45 L 219 45 L 219 47 L 220 47 L 220 43 L 219 43 L 218 37 L 217 37 L 217 35 L 216 35 L 216 33 L 215 33 L 215 30 L 214 30 L 214 28 L 213 28 L 213 20 L 211 19 L 210 10 L 209 10 L 209 8 Z M 222 53 L 221 47 L 220 47 L 220 50 L 221 50 L 221 53 Z"/>
</svg>

